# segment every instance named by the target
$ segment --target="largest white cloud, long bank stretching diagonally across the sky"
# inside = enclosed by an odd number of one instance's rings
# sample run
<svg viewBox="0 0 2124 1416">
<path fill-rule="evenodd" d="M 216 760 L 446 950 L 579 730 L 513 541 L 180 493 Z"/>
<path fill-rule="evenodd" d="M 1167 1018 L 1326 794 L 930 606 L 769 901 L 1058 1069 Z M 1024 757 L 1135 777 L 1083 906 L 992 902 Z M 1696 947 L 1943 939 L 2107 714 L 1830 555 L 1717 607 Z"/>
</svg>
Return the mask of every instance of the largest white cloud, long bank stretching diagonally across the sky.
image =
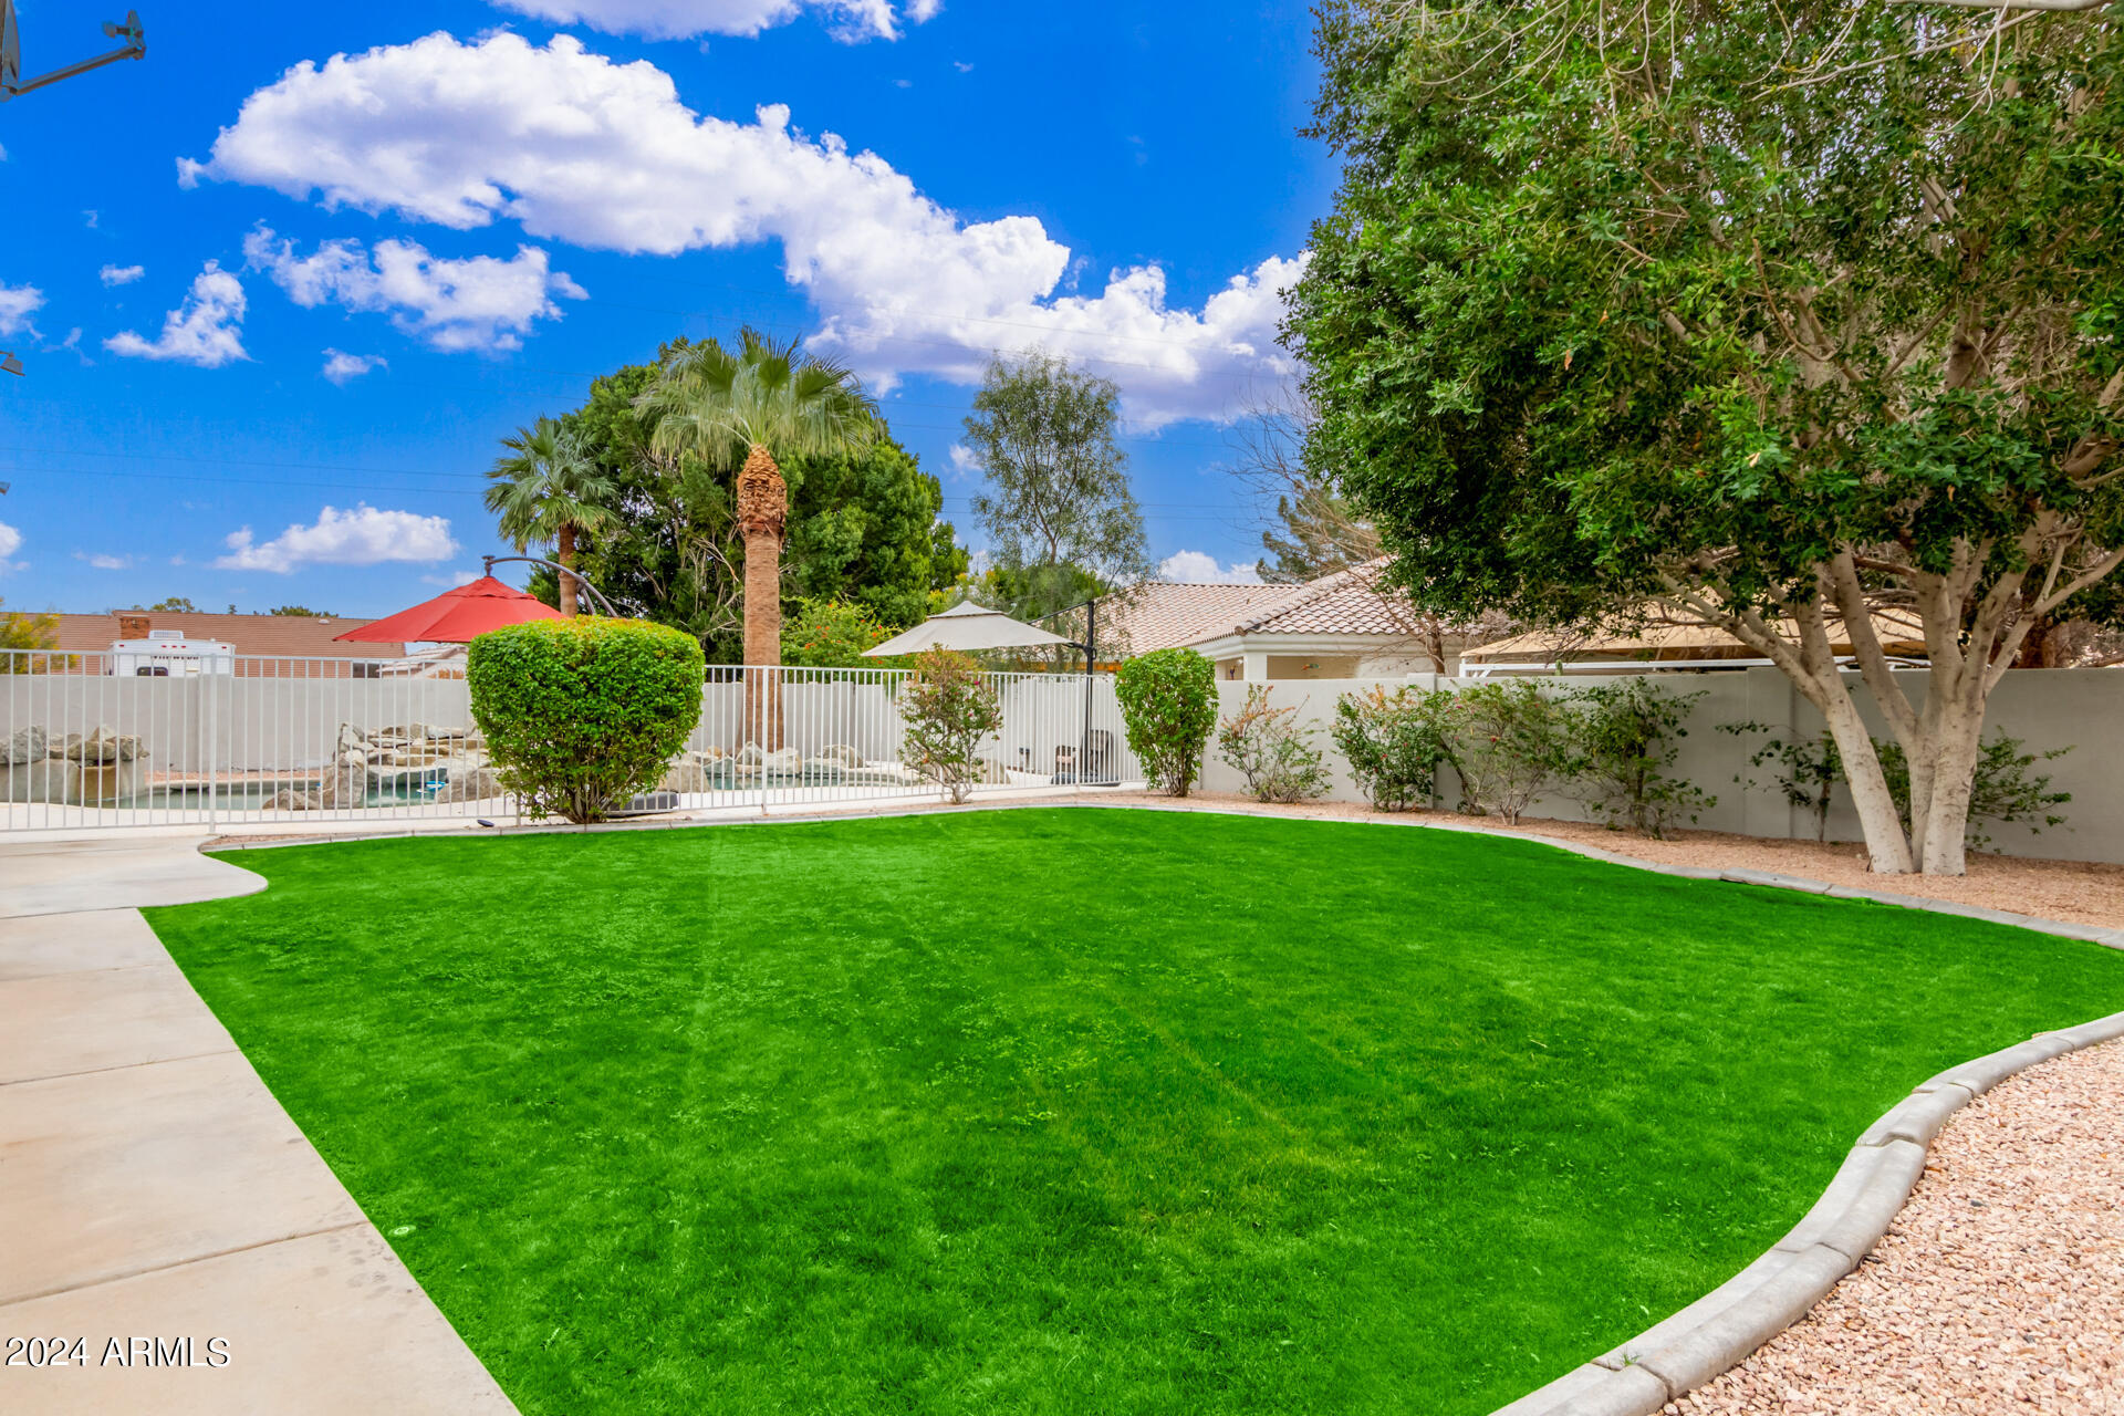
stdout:
<svg viewBox="0 0 2124 1416">
<path fill-rule="evenodd" d="M 1168 306 L 1147 265 L 1058 295 L 1079 259 L 1037 219 L 964 223 L 875 153 L 792 129 L 784 106 L 699 117 L 663 70 L 567 34 L 431 34 L 297 64 L 178 172 L 455 229 L 516 221 L 605 251 L 773 240 L 822 310 L 818 344 L 886 386 L 913 372 L 975 382 L 992 350 L 1045 346 L 1111 376 L 1126 416 L 1160 427 L 1230 420 L 1294 372 L 1279 289 L 1302 255 L 1234 276 L 1200 310 Z"/>
</svg>

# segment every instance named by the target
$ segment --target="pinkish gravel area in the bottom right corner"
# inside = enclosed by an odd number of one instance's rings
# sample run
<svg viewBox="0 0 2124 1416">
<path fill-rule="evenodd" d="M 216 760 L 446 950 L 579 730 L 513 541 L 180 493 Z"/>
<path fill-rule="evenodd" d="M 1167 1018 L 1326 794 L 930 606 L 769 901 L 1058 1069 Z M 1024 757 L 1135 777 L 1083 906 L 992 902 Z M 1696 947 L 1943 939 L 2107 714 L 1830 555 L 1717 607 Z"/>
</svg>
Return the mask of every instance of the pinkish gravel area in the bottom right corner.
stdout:
<svg viewBox="0 0 2124 1416">
<path fill-rule="evenodd" d="M 1888 1238 L 1799 1325 L 1665 1410 L 2124 1412 L 2124 1042 L 1958 1112 Z"/>
</svg>

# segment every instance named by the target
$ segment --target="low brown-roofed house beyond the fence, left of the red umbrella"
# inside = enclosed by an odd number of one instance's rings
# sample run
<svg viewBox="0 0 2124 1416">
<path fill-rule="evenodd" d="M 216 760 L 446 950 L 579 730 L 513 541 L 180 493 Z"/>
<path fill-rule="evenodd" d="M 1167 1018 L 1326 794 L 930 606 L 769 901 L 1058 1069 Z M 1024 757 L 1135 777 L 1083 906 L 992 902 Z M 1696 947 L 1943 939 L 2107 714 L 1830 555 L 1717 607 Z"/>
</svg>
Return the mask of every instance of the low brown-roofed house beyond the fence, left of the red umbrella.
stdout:
<svg viewBox="0 0 2124 1416">
<path fill-rule="evenodd" d="M 361 628 L 370 620 L 321 616 L 223 616 L 181 614 L 166 609 L 119 609 L 113 614 L 62 614 L 62 654 L 70 656 L 68 673 L 110 673 L 110 645 L 181 633 L 202 643 L 227 643 L 236 650 L 236 673 L 242 677 L 299 679 L 374 679 L 384 662 L 406 656 L 404 643 L 340 643 L 333 635 Z"/>
</svg>

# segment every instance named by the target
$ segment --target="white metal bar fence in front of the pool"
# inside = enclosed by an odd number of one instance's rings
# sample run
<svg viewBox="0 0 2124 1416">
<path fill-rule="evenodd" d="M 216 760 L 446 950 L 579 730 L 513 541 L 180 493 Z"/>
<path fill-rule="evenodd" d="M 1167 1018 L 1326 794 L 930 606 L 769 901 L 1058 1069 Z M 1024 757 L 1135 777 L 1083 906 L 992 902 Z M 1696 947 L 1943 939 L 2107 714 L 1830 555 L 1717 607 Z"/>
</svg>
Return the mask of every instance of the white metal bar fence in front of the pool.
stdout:
<svg viewBox="0 0 2124 1416">
<path fill-rule="evenodd" d="M 238 656 L 195 675 L 104 667 L 0 652 L 0 830 L 520 819 L 461 677 L 344 658 Z M 907 677 L 712 667 L 686 749 L 635 805 L 935 798 L 939 783 L 901 760 Z M 1141 779 L 1109 675 L 983 677 L 1003 728 L 981 745 L 977 792 Z"/>
</svg>

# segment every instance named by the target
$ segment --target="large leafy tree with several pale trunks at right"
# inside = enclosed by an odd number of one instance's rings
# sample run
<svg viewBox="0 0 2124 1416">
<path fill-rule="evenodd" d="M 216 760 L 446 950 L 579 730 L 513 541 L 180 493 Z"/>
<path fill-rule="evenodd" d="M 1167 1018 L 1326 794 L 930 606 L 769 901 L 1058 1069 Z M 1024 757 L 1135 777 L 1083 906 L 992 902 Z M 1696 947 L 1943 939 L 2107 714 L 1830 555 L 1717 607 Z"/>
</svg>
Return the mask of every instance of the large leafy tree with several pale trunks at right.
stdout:
<svg viewBox="0 0 2124 1416">
<path fill-rule="evenodd" d="M 1822 711 L 1873 868 L 1960 873 L 1986 696 L 2124 546 L 2118 11 L 1319 15 L 1344 178 L 1289 338 L 1398 580 L 1731 633 Z"/>
</svg>

